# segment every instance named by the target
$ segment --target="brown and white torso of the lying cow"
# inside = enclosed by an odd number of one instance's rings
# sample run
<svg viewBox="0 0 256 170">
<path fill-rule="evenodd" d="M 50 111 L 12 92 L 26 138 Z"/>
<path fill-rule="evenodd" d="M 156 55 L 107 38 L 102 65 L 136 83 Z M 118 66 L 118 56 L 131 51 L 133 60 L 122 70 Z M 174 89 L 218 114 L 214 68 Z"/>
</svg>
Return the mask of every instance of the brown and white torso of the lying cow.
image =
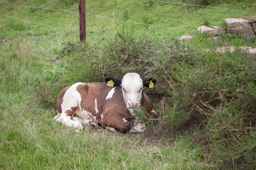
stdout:
<svg viewBox="0 0 256 170">
<path fill-rule="evenodd" d="M 83 114 L 90 113 L 96 119 L 101 119 L 102 114 L 108 111 L 122 116 L 129 113 L 122 96 L 122 87 L 112 88 L 104 82 L 79 82 L 62 89 L 57 98 L 57 108 L 63 111 L 64 107 L 70 108 L 78 116 L 84 117 Z"/>
</svg>

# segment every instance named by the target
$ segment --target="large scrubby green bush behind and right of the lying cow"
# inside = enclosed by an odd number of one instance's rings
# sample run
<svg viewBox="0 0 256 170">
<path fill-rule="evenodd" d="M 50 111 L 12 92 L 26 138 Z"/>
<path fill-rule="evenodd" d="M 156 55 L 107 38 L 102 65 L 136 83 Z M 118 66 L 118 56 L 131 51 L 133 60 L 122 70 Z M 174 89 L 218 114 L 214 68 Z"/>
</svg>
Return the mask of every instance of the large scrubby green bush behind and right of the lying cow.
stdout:
<svg viewBox="0 0 256 170">
<path fill-rule="evenodd" d="M 54 106 L 58 89 L 73 82 L 101 82 L 104 77 L 122 77 L 128 72 L 154 77 L 157 87 L 145 90 L 155 103 L 161 100 L 157 112 L 162 122 L 149 123 L 155 126 L 151 130 L 175 134 L 199 126 L 207 133 L 197 137 L 207 140 L 208 149 L 218 157 L 216 162 L 225 161 L 222 167 L 253 167 L 252 155 L 244 157 L 247 151 L 236 149 L 255 149 L 255 142 L 250 143 L 253 138 L 247 137 L 255 135 L 256 126 L 252 59 L 240 48 L 234 53 L 215 51 L 212 41 L 200 35 L 207 49 L 199 51 L 175 39 L 158 41 L 151 34 L 138 34 L 133 27 L 123 26 L 108 43 L 66 44 L 67 62 L 59 68 L 62 72 L 51 72 L 52 82 L 41 82 L 50 94 L 44 101 Z"/>
</svg>

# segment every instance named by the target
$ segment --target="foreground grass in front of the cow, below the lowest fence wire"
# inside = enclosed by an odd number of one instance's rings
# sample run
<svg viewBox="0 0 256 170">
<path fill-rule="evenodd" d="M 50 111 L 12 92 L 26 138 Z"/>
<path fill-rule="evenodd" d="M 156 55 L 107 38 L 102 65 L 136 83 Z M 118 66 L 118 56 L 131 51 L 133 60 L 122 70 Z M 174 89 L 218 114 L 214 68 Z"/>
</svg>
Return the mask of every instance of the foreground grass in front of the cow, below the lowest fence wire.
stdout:
<svg viewBox="0 0 256 170">
<path fill-rule="evenodd" d="M 153 145 L 140 135 L 91 127 L 75 132 L 55 122 L 56 109 L 42 108 L 34 93 L 38 80 L 49 76 L 46 62 L 15 50 L 0 54 L 0 169 L 181 169 L 201 164 L 195 154 L 201 147 L 190 138 L 177 137 L 177 147 L 170 149 L 165 147 L 169 143 Z M 54 65 L 47 68 L 54 70 Z"/>
</svg>

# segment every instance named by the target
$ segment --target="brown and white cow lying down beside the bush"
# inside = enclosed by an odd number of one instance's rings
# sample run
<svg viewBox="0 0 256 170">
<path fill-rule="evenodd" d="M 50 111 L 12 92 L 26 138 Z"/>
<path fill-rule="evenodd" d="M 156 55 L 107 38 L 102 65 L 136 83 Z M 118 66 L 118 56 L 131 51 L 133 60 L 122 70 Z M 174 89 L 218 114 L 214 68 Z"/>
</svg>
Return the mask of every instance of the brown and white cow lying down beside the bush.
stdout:
<svg viewBox="0 0 256 170">
<path fill-rule="evenodd" d="M 123 133 L 144 132 L 145 123 L 135 119 L 134 108 L 142 107 L 157 117 L 144 87 L 154 87 L 153 78 L 142 79 L 137 73 L 128 73 L 122 79 L 106 77 L 105 82 L 75 83 L 61 90 L 57 121 L 69 127 L 83 129 L 82 124 L 96 125 Z M 76 115 L 81 119 L 72 119 Z"/>
</svg>

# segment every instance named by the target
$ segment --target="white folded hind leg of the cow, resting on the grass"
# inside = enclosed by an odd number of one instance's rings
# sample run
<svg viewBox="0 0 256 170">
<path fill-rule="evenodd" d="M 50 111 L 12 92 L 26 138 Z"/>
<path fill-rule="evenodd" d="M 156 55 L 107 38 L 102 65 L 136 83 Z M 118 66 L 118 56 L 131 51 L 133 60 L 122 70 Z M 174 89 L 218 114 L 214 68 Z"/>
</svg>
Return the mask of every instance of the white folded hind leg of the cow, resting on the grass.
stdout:
<svg viewBox="0 0 256 170">
<path fill-rule="evenodd" d="M 83 129 L 83 126 L 79 120 L 72 120 L 72 116 L 75 113 L 71 110 L 62 111 L 61 115 L 58 117 L 57 121 L 63 123 L 64 125 L 67 125 L 69 127 L 74 127 L 76 129 Z"/>
</svg>

